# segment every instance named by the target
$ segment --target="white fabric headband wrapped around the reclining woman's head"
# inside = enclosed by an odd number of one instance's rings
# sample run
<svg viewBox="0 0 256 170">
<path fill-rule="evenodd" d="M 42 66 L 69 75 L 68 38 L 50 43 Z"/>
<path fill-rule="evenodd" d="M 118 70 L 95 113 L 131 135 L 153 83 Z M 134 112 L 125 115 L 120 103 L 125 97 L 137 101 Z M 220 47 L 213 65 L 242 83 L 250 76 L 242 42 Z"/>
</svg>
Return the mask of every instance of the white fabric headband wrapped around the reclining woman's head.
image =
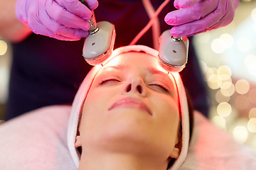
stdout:
<svg viewBox="0 0 256 170">
<path fill-rule="evenodd" d="M 119 47 L 113 51 L 112 56 L 108 61 L 112 60 L 114 57 L 124 53 L 124 52 L 145 52 L 146 54 L 157 57 L 159 52 L 144 45 L 129 45 L 125 47 Z M 85 79 L 82 81 L 80 88 L 78 89 L 78 93 L 75 95 L 75 99 L 73 101 L 72 110 L 70 113 L 70 119 L 68 123 L 68 149 L 70 151 L 71 157 L 73 158 L 75 165 L 79 166 L 80 162 L 80 153 L 78 149 L 75 148 L 75 137 L 78 132 L 78 122 L 80 118 L 80 113 L 82 113 L 82 106 L 87 96 L 87 92 L 90 89 L 93 79 L 95 78 L 97 72 L 102 68 L 101 65 L 97 65 L 93 67 L 90 72 L 87 74 Z M 181 153 L 174 162 L 174 164 L 168 170 L 178 169 L 183 161 L 186 159 L 186 155 L 188 152 L 188 142 L 189 142 L 189 118 L 188 118 L 188 102 L 186 98 L 186 92 L 183 87 L 183 83 L 181 81 L 181 77 L 178 73 L 169 73 L 176 81 L 176 87 L 178 91 L 178 100 L 181 107 L 181 126 L 182 126 L 182 147 Z"/>
</svg>

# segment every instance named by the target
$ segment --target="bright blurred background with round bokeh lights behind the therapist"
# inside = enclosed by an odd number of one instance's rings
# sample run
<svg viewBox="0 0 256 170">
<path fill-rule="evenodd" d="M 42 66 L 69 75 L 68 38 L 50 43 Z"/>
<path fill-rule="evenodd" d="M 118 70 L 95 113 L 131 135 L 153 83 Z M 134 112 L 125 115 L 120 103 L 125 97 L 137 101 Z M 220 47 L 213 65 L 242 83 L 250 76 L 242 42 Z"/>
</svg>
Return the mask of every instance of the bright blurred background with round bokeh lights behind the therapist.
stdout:
<svg viewBox="0 0 256 170">
<path fill-rule="evenodd" d="M 196 35 L 193 43 L 208 84 L 210 121 L 256 151 L 256 1 L 241 0 L 230 25 Z M 0 123 L 11 56 L 11 44 L 0 38 Z"/>
</svg>

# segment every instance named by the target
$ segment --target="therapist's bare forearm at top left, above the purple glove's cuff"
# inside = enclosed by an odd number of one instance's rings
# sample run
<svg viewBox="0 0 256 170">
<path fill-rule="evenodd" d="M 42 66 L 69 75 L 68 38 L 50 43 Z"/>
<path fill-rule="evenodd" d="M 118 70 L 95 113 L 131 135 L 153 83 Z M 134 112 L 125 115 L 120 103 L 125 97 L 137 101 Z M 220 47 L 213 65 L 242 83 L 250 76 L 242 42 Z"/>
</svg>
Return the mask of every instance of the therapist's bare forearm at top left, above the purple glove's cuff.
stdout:
<svg viewBox="0 0 256 170">
<path fill-rule="evenodd" d="M 0 0 L 0 38 L 11 42 L 20 42 L 32 32 L 15 14 L 16 0 Z"/>
</svg>

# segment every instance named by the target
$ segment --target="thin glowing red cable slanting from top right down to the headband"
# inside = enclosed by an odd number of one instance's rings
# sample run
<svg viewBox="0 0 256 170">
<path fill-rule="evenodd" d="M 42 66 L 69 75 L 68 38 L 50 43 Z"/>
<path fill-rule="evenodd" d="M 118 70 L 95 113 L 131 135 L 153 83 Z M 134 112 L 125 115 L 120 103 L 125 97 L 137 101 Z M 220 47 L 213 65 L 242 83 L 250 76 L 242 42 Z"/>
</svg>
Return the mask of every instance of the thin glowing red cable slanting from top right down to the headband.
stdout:
<svg viewBox="0 0 256 170">
<path fill-rule="evenodd" d="M 166 6 L 166 4 L 169 3 L 170 0 L 165 0 L 160 6 L 159 8 L 157 8 L 156 12 L 154 13 L 154 16 L 151 18 L 151 20 L 149 21 L 149 23 L 146 24 L 146 26 L 136 35 L 136 37 L 132 40 L 132 42 L 129 43 L 129 45 L 135 45 L 136 42 L 142 38 L 142 35 L 144 35 L 144 33 L 146 33 L 147 30 L 149 30 L 149 28 L 152 26 L 154 19 L 159 15 L 159 13 L 161 12 L 161 10 L 164 8 L 164 6 Z"/>
</svg>

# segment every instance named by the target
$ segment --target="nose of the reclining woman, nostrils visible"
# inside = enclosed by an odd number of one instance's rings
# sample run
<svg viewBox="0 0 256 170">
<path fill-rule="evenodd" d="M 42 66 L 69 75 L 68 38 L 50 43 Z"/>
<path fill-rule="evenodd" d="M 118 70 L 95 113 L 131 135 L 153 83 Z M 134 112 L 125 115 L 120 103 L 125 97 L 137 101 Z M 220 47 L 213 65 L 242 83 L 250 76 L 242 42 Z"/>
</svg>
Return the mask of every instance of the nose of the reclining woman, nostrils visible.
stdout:
<svg viewBox="0 0 256 170">
<path fill-rule="evenodd" d="M 139 93 L 142 96 L 146 95 L 146 87 L 144 81 L 140 77 L 130 78 L 126 84 L 124 84 L 123 93 Z"/>
</svg>

